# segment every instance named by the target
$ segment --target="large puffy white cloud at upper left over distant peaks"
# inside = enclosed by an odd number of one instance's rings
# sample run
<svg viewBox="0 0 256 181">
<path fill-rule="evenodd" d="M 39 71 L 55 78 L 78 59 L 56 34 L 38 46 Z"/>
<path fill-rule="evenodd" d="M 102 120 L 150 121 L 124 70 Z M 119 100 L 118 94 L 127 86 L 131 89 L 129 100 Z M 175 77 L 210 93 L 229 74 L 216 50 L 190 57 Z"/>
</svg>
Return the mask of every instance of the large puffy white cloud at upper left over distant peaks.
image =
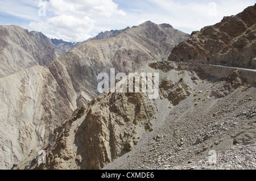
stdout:
<svg viewBox="0 0 256 181">
<path fill-rule="evenodd" d="M 112 0 L 50 0 L 46 4 L 45 22 L 31 22 L 30 29 L 46 32 L 49 37 L 66 41 L 84 41 L 92 37 L 97 19 L 109 19 L 113 15 L 126 16 Z"/>
</svg>

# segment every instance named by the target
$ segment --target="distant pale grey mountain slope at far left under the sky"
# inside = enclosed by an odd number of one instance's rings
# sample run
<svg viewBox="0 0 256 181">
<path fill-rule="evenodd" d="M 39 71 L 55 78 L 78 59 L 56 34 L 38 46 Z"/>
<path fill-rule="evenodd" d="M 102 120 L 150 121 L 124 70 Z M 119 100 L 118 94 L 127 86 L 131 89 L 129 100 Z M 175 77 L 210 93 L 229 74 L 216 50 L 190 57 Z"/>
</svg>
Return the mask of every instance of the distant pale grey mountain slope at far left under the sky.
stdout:
<svg viewBox="0 0 256 181">
<path fill-rule="evenodd" d="M 62 54 L 64 52 L 40 32 L 0 26 L 0 78 L 34 65 L 47 65 Z"/>
</svg>

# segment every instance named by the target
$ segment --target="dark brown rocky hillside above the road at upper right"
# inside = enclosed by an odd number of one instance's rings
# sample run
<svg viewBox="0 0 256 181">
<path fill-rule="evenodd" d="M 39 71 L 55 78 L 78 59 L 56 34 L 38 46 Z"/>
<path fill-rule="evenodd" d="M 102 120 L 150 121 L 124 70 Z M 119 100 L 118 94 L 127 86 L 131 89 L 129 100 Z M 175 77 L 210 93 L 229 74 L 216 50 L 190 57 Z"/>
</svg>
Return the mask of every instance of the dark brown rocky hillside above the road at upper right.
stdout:
<svg viewBox="0 0 256 181">
<path fill-rule="evenodd" d="M 193 32 L 177 45 L 169 61 L 256 68 L 256 4 L 236 16 Z"/>
</svg>

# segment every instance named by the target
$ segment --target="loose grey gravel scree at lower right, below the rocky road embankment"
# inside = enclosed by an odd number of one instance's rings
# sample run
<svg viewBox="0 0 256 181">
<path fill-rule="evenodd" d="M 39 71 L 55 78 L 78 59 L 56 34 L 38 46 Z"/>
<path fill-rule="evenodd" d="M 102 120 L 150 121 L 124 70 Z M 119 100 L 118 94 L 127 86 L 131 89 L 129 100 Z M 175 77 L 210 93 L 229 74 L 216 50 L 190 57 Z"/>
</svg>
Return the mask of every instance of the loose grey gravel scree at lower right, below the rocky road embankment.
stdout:
<svg viewBox="0 0 256 181">
<path fill-rule="evenodd" d="M 256 89 L 239 87 L 224 98 L 198 100 L 218 84 L 197 81 L 193 89 L 202 92 L 197 100 L 192 94 L 173 107 L 132 151 L 104 169 L 255 169 Z M 216 151 L 216 164 L 209 163 L 210 150 Z"/>
</svg>

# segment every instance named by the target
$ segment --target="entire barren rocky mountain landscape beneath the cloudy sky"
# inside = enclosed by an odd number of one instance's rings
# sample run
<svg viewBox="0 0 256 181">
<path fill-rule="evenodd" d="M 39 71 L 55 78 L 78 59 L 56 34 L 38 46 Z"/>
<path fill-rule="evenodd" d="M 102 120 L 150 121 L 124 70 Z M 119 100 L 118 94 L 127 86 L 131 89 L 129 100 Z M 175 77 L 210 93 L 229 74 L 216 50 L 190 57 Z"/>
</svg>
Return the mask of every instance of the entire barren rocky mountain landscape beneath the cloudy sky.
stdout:
<svg viewBox="0 0 256 181">
<path fill-rule="evenodd" d="M 255 19 L 256 4 L 192 35 L 148 21 L 82 43 L 1 26 L 0 169 L 255 169 Z M 112 68 L 159 73 L 159 97 L 100 94 Z"/>
</svg>

